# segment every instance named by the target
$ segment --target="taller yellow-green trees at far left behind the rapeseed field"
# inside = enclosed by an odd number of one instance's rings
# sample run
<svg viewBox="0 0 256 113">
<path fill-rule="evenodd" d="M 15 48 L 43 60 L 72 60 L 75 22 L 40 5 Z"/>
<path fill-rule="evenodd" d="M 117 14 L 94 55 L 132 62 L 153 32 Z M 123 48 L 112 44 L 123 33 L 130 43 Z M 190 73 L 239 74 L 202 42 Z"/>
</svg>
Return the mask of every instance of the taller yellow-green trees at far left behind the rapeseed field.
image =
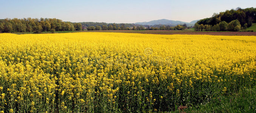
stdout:
<svg viewBox="0 0 256 113">
<path fill-rule="evenodd" d="M 56 18 L 6 18 L 0 20 L 0 32 L 41 32 L 41 31 L 79 31 L 80 23 L 63 22 Z"/>
</svg>

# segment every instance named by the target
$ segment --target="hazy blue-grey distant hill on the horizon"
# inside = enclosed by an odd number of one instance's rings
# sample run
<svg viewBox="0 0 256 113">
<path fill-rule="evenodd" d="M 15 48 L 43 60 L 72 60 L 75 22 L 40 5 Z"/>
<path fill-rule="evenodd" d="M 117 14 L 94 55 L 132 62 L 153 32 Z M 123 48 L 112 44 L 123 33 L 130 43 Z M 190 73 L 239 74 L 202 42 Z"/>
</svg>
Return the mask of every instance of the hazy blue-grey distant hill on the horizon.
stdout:
<svg viewBox="0 0 256 113">
<path fill-rule="evenodd" d="M 165 25 L 171 25 L 171 26 L 176 26 L 177 24 L 188 24 L 194 25 L 198 20 L 191 21 L 190 23 L 184 22 L 184 21 L 174 21 L 174 20 L 167 20 L 167 19 L 161 19 L 161 20 L 153 20 L 149 22 L 137 22 L 135 24 L 141 24 L 141 25 L 156 25 L 156 24 L 165 24 Z"/>
</svg>

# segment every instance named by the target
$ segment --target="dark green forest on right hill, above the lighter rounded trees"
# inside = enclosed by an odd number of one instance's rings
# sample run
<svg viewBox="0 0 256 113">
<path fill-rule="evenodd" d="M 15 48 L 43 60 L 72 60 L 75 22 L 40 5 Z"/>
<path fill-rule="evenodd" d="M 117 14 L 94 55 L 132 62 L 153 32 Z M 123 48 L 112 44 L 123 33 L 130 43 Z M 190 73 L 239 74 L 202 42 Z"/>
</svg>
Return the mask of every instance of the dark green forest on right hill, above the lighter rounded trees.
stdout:
<svg viewBox="0 0 256 113">
<path fill-rule="evenodd" d="M 197 21 L 197 24 L 208 24 L 208 25 L 216 25 L 221 21 L 225 21 L 230 23 L 233 20 L 238 20 L 242 27 L 247 23 L 247 27 L 250 27 L 252 23 L 256 23 L 256 8 L 236 8 L 227 10 L 225 12 L 220 12 L 219 14 L 214 13 L 212 17 L 205 18 Z"/>
</svg>

